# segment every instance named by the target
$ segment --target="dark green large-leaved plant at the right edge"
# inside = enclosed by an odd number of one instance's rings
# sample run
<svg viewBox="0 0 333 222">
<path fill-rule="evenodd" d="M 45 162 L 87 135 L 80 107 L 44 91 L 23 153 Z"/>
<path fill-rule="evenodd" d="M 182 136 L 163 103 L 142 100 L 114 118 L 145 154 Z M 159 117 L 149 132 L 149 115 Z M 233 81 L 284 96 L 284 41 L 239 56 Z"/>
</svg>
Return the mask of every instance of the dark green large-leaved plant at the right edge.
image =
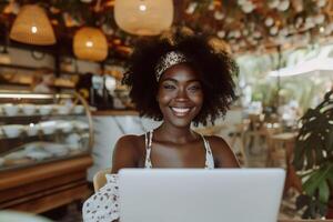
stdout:
<svg viewBox="0 0 333 222">
<path fill-rule="evenodd" d="M 315 109 L 300 120 L 293 165 L 297 170 L 303 193 L 296 199 L 302 218 L 333 218 L 333 91 Z"/>
</svg>

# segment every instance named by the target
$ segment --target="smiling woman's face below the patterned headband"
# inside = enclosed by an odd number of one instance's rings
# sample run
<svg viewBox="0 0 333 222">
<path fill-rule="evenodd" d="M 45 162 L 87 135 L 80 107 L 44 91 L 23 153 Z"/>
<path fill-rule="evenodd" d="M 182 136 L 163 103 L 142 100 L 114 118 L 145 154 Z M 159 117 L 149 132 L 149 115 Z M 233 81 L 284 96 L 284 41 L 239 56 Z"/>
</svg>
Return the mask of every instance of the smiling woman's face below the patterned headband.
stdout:
<svg viewBox="0 0 333 222">
<path fill-rule="evenodd" d="M 189 127 L 203 103 L 198 73 L 188 64 L 169 68 L 161 77 L 157 99 L 164 122 Z"/>
</svg>

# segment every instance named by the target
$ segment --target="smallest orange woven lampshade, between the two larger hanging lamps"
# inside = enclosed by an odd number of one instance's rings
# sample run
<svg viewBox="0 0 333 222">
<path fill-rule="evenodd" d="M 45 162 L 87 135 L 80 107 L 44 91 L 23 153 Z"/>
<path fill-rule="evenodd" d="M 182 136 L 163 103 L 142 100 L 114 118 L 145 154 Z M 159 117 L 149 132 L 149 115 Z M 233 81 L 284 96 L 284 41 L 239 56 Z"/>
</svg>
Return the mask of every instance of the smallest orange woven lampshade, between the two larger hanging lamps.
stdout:
<svg viewBox="0 0 333 222">
<path fill-rule="evenodd" d="M 108 57 L 108 41 L 97 28 L 83 27 L 77 31 L 73 51 L 79 59 L 103 61 Z"/>
</svg>

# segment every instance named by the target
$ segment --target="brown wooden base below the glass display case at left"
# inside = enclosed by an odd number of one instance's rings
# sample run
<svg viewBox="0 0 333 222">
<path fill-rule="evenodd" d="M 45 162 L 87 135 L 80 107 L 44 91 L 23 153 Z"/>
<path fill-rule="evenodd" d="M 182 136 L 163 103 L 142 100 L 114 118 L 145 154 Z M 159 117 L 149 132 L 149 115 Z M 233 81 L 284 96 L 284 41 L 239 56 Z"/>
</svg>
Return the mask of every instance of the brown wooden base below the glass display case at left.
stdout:
<svg viewBox="0 0 333 222">
<path fill-rule="evenodd" d="M 0 172 L 0 209 L 31 213 L 83 201 L 90 194 L 87 169 L 90 155 Z"/>
</svg>

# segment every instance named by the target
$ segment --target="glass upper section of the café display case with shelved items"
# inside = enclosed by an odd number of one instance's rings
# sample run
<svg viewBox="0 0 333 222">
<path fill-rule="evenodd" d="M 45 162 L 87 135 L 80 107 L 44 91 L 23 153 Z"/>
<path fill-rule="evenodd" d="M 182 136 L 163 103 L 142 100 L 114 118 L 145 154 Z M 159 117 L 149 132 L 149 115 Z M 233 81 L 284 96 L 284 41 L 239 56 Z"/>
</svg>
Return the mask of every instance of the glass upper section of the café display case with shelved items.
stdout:
<svg viewBox="0 0 333 222">
<path fill-rule="evenodd" d="M 80 94 L 0 91 L 0 172 L 87 155 L 92 144 Z"/>
</svg>

